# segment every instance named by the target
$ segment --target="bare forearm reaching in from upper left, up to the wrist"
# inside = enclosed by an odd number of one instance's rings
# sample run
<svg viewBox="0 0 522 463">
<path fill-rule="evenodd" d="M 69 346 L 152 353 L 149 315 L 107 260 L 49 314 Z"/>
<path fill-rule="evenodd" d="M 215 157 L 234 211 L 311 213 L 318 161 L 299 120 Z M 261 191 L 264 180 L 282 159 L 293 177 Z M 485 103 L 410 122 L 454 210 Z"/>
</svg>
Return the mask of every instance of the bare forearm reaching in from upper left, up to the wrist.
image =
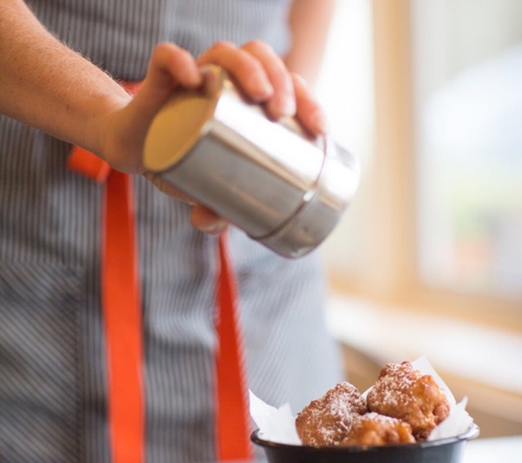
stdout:
<svg viewBox="0 0 522 463">
<path fill-rule="evenodd" d="M 0 1 L 0 113 L 98 153 L 93 127 L 129 100 L 108 75 L 53 37 L 22 0 Z"/>
</svg>

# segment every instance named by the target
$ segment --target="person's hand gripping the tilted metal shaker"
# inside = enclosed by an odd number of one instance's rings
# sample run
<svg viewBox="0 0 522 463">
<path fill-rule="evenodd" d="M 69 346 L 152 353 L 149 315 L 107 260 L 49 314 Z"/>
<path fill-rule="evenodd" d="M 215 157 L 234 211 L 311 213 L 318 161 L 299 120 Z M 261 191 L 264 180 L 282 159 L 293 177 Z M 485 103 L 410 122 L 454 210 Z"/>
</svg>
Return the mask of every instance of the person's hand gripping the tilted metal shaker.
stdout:
<svg viewBox="0 0 522 463">
<path fill-rule="evenodd" d="M 304 81 L 289 72 L 268 45 L 255 41 L 237 47 L 220 42 L 198 59 L 174 44 L 158 45 L 134 99 L 105 116 L 101 128 L 102 157 L 114 169 L 144 173 L 163 192 L 191 204 L 190 197 L 157 176 L 144 172 L 143 146 L 148 126 L 173 90 L 177 86 L 199 88 L 203 83 L 201 68 L 208 64 L 225 69 L 245 97 L 264 105 L 270 117 L 296 116 L 313 135 L 325 131 L 322 111 Z M 227 227 L 226 221 L 201 204 L 195 204 L 191 222 L 210 234 L 220 234 Z"/>
</svg>

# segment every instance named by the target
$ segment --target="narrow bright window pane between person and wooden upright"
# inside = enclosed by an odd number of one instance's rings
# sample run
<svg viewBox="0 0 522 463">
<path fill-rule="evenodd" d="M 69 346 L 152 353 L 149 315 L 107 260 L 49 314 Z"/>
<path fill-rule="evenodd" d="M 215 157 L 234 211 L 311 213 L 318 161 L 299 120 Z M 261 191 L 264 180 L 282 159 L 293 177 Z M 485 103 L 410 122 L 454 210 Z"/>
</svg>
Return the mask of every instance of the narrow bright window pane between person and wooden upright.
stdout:
<svg viewBox="0 0 522 463">
<path fill-rule="evenodd" d="M 373 77 L 371 2 L 338 0 L 329 46 L 316 86 L 332 135 L 356 154 L 369 170 L 374 150 L 375 102 Z M 330 268 L 340 274 L 357 271 L 365 194 L 349 207 L 338 228 L 325 244 Z"/>
</svg>

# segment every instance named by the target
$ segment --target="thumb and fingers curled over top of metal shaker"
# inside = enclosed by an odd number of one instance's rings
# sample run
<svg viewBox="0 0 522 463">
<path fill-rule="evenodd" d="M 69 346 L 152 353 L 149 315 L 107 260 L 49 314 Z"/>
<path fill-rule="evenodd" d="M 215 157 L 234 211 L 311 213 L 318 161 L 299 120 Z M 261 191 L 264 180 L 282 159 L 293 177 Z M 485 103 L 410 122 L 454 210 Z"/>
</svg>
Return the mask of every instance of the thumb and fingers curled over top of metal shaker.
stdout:
<svg viewBox="0 0 522 463">
<path fill-rule="evenodd" d="M 324 115 L 304 80 L 291 75 L 276 52 L 260 41 L 248 42 L 242 47 L 219 42 L 197 60 L 177 45 L 159 44 L 142 89 L 134 98 L 133 104 L 140 106 L 142 117 L 153 117 L 175 86 L 201 86 L 200 66 L 207 64 L 224 68 L 246 95 L 263 103 L 275 120 L 297 115 L 312 134 L 325 133 Z"/>
</svg>

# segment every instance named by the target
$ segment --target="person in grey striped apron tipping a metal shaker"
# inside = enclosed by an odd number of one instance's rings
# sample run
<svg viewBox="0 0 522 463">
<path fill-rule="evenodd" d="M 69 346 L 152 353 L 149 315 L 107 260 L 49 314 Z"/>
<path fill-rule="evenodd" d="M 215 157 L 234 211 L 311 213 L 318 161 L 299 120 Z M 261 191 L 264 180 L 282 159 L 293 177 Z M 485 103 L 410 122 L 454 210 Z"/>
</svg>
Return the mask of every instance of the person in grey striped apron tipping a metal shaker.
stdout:
<svg viewBox="0 0 522 463">
<path fill-rule="evenodd" d="M 141 161 L 154 115 L 177 87 L 201 86 L 207 64 L 222 66 L 271 117 L 295 115 L 322 134 L 324 115 L 306 82 L 315 78 L 333 7 L 0 2 L 0 461 L 110 461 L 102 187 L 67 169 L 73 145 L 133 174 L 145 461 L 215 461 L 214 249 L 226 228 L 251 389 L 297 411 L 342 381 L 319 252 L 276 256 L 156 188 Z M 143 83 L 131 97 L 121 81 Z"/>
</svg>

